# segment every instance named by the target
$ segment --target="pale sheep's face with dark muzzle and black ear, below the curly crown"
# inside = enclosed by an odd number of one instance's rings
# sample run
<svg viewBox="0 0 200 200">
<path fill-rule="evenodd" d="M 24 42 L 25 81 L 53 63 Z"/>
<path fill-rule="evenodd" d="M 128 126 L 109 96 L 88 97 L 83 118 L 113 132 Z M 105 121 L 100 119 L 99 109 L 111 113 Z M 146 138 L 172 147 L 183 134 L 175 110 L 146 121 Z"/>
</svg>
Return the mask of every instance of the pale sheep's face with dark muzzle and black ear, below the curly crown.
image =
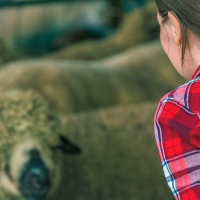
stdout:
<svg viewBox="0 0 200 200">
<path fill-rule="evenodd" d="M 62 155 L 59 149 L 69 153 L 79 152 L 71 143 L 64 145 L 63 139 L 59 146 L 53 148 L 44 140 L 31 137 L 21 139 L 12 148 L 11 157 L 1 171 L 2 189 L 15 199 L 48 199 L 60 181 Z"/>
</svg>

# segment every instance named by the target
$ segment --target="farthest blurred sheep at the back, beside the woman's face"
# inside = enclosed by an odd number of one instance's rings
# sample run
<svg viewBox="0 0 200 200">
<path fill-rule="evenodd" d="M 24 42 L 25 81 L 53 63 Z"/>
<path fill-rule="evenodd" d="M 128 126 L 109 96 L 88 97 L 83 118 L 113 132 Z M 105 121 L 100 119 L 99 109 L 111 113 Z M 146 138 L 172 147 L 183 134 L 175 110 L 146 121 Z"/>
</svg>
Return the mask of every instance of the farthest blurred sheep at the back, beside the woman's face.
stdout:
<svg viewBox="0 0 200 200">
<path fill-rule="evenodd" d="M 158 38 L 155 2 L 127 14 L 116 34 L 104 39 L 77 43 L 44 55 L 53 59 L 97 60 L 122 52 L 132 46 Z"/>
</svg>

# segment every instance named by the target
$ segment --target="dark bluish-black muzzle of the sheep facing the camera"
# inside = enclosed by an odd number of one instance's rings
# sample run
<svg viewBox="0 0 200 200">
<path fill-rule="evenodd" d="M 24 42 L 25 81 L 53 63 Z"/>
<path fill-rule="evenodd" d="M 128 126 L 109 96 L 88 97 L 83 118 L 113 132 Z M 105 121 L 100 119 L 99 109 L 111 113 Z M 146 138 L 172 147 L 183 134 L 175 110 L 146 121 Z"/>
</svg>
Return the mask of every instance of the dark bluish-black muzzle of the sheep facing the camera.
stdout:
<svg viewBox="0 0 200 200">
<path fill-rule="evenodd" d="M 20 190 L 27 200 L 44 200 L 47 196 L 50 187 L 49 173 L 37 150 L 30 151 L 30 159 L 19 182 Z"/>
</svg>

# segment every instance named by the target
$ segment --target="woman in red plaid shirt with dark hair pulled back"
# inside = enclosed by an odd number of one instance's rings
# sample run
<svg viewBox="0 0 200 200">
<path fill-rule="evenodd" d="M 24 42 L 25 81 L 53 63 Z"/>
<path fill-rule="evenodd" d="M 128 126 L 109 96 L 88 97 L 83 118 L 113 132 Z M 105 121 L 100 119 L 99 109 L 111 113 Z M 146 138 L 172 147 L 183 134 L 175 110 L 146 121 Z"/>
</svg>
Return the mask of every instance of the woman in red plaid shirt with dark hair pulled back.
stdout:
<svg viewBox="0 0 200 200">
<path fill-rule="evenodd" d="M 188 82 L 159 102 L 154 118 L 167 183 L 178 200 L 200 199 L 200 1 L 156 0 L 160 40 Z M 162 66 L 160 66 L 162 67 Z"/>
</svg>

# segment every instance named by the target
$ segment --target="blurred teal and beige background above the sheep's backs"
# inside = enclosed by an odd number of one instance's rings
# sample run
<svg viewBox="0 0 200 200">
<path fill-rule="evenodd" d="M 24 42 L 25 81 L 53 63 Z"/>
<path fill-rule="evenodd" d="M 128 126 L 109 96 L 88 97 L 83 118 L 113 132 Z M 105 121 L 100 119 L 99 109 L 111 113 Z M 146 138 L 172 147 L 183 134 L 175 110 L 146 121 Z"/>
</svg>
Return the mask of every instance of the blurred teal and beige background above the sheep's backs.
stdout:
<svg viewBox="0 0 200 200">
<path fill-rule="evenodd" d="M 1 0 L 0 38 L 42 55 L 81 40 L 115 34 L 124 15 L 150 0 Z"/>
</svg>

